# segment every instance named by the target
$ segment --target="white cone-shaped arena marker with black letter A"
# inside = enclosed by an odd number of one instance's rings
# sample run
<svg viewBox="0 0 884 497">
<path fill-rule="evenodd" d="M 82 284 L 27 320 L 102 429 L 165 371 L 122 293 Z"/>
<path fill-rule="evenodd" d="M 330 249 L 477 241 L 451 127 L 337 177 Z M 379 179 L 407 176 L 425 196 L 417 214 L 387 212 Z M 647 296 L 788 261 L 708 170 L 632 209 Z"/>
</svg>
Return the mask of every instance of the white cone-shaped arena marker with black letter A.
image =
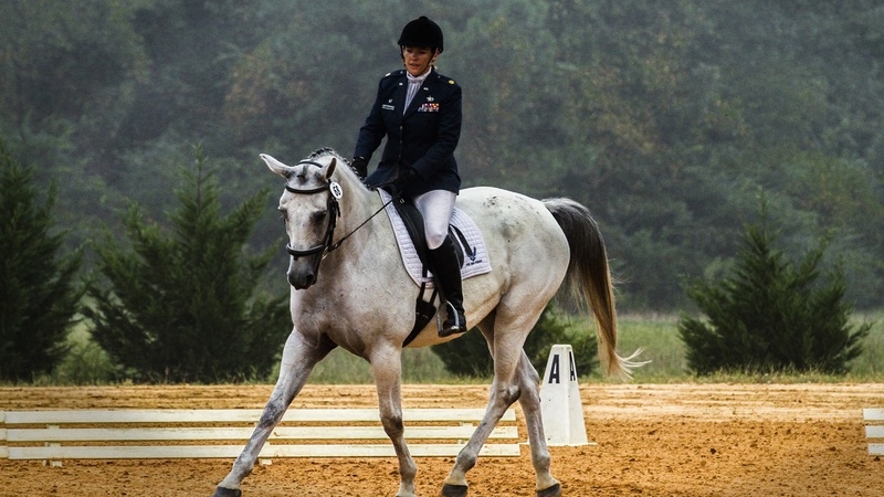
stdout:
<svg viewBox="0 0 884 497">
<path fill-rule="evenodd" d="M 568 368 L 562 374 L 562 368 Z M 568 381 L 565 382 L 564 379 Z M 540 387 L 540 416 L 549 445 L 587 445 L 583 404 L 577 384 L 573 350 L 569 345 L 554 345 Z"/>
</svg>

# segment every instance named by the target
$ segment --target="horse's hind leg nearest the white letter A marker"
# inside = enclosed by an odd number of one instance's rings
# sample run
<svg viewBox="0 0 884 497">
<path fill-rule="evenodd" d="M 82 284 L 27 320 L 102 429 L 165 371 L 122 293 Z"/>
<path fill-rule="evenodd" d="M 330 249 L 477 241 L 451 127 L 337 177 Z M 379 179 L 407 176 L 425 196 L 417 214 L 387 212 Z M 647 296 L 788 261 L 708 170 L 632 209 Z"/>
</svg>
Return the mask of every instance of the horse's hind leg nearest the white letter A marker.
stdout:
<svg viewBox="0 0 884 497">
<path fill-rule="evenodd" d="M 538 388 L 540 377 L 524 350 L 516 371 L 516 381 L 522 391 L 518 402 L 525 415 L 528 443 L 532 447 L 532 464 L 534 464 L 534 472 L 537 475 L 537 497 L 557 497 L 561 494 L 561 485 L 549 472 L 551 458 L 544 434 L 544 421 L 540 416 L 540 391 Z"/>
</svg>

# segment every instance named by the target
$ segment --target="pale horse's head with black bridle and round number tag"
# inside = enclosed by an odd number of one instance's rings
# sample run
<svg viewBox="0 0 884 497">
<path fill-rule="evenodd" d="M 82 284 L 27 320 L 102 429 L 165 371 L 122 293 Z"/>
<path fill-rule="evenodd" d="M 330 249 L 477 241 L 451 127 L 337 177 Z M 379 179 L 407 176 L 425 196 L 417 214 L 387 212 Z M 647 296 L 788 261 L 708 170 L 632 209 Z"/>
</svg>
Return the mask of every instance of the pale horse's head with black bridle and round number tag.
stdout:
<svg viewBox="0 0 884 497">
<path fill-rule="evenodd" d="M 265 154 L 261 158 L 271 171 L 286 180 L 278 209 L 288 235 L 285 248 L 292 255 L 288 283 L 295 289 L 309 288 L 316 283 L 323 257 L 334 250 L 333 237 L 340 215 L 338 201 L 343 194 L 340 184 L 332 180 L 337 157 L 311 157 L 295 166 L 286 166 Z"/>
</svg>

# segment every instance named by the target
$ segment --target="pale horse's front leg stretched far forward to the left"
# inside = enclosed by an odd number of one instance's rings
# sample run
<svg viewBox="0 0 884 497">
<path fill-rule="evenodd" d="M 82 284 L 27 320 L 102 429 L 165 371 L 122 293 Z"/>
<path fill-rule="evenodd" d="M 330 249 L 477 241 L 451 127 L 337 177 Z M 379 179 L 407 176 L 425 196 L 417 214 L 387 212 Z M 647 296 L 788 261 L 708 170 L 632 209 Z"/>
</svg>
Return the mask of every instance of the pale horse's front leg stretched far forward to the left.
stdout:
<svg viewBox="0 0 884 497">
<path fill-rule="evenodd" d="M 261 414 L 251 438 L 233 463 L 233 468 L 218 484 L 212 497 L 239 497 L 242 495 L 240 485 L 243 478 L 252 473 L 255 461 L 271 432 L 282 420 L 288 404 L 301 392 L 313 367 L 334 348 L 334 345 L 317 345 L 308 341 L 297 332 L 297 329 L 288 335 L 280 364 L 280 378 L 264 406 L 264 412 Z"/>
</svg>

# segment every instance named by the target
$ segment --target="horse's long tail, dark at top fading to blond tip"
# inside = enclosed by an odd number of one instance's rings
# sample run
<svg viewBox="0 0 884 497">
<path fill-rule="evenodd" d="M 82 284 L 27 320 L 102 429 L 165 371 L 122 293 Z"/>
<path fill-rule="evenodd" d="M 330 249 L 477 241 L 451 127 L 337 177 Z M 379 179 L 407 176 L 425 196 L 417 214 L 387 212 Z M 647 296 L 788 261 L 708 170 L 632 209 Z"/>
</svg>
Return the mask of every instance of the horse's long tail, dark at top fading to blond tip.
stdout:
<svg viewBox="0 0 884 497">
<path fill-rule="evenodd" d="M 566 284 L 575 297 L 586 300 L 596 318 L 599 358 L 607 366 L 609 376 L 629 379 L 632 370 L 645 362 L 634 360 L 641 350 L 627 358 L 617 353 L 614 289 L 599 225 L 589 209 L 573 200 L 547 199 L 544 204 L 568 239 L 571 258 Z"/>
</svg>

